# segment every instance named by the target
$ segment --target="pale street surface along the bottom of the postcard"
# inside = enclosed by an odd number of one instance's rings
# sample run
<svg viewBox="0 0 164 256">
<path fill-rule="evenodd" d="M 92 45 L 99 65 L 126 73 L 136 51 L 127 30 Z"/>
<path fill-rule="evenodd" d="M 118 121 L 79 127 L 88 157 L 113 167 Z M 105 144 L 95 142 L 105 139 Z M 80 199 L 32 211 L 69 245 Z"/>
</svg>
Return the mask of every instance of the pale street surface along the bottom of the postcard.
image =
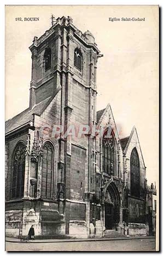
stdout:
<svg viewBox="0 0 164 256">
<path fill-rule="evenodd" d="M 6 242 L 6 251 L 155 251 L 155 238 L 49 243 Z"/>
</svg>

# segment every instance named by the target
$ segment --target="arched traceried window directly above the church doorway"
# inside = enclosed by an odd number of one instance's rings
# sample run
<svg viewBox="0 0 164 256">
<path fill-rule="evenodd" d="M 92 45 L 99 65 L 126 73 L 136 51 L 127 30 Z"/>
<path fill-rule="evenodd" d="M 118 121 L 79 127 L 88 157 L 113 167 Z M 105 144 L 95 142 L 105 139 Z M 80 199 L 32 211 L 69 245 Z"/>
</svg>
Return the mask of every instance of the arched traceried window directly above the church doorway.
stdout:
<svg viewBox="0 0 164 256">
<path fill-rule="evenodd" d="M 111 132 L 108 134 L 108 130 L 104 133 L 103 143 L 102 143 L 102 164 L 103 172 L 110 175 L 114 175 L 115 170 L 115 142 L 114 135 Z M 107 138 L 106 138 L 107 137 Z"/>
</svg>

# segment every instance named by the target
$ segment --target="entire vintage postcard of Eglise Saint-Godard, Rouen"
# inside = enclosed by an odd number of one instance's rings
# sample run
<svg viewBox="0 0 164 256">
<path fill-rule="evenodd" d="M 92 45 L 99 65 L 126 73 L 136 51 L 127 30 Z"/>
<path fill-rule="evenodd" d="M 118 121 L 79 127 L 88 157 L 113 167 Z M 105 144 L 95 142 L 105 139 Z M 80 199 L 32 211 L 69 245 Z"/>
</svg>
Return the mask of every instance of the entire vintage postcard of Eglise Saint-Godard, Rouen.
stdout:
<svg viewBox="0 0 164 256">
<path fill-rule="evenodd" d="M 159 6 L 5 6 L 6 251 L 159 251 Z"/>
</svg>

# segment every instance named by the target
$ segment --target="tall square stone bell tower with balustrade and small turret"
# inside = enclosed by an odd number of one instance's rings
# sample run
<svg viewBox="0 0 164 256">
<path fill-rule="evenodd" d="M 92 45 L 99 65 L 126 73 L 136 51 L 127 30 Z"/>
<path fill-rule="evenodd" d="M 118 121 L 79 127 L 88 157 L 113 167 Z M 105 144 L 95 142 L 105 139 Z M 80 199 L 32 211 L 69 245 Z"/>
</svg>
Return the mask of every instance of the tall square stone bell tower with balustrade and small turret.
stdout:
<svg viewBox="0 0 164 256">
<path fill-rule="evenodd" d="M 87 136 L 78 137 L 78 131 L 81 126 L 96 124 L 97 59 L 102 54 L 92 33 L 78 30 L 70 16 L 53 19 L 44 35 L 34 37 L 30 50 L 30 107 L 49 98 L 61 86 L 60 124 L 65 132 L 72 126 L 75 130 L 75 136 L 63 138 L 61 134 L 58 140 L 57 168 L 63 172 L 58 189 L 65 191 L 66 234 L 74 228 L 71 221 L 76 215 L 77 221 L 86 221 L 89 235 L 90 197 L 96 186 L 96 138 L 90 136 L 90 131 Z M 86 207 L 81 217 L 83 203 Z"/>
</svg>

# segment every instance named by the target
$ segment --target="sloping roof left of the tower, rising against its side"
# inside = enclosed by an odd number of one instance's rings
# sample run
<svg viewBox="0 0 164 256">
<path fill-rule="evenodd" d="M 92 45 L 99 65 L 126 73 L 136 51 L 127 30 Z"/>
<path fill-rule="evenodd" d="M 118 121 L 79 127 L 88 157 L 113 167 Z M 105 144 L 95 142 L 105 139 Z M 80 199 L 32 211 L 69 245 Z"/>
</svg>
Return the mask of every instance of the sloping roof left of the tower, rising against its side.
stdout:
<svg viewBox="0 0 164 256">
<path fill-rule="evenodd" d="M 32 109 L 28 107 L 28 109 L 22 111 L 18 115 L 7 120 L 5 122 L 5 134 L 11 132 L 14 129 L 18 129 L 20 126 L 22 126 L 25 123 L 28 123 L 30 121 L 33 122 L 33 114 L 40 116 L 44 112 L 46 107 L 48 107 L 48 105 L 51 103 L 52 99 L 54 99 L 55 95 L 59 92 L 60 89 L 61 89 L 61 86 L 58 86 L 52 96 L 50 96 L 49 98 L 46 98 L 45 100 L 41 101 L 37 105 L 34 105 Z"/>
</svg>

